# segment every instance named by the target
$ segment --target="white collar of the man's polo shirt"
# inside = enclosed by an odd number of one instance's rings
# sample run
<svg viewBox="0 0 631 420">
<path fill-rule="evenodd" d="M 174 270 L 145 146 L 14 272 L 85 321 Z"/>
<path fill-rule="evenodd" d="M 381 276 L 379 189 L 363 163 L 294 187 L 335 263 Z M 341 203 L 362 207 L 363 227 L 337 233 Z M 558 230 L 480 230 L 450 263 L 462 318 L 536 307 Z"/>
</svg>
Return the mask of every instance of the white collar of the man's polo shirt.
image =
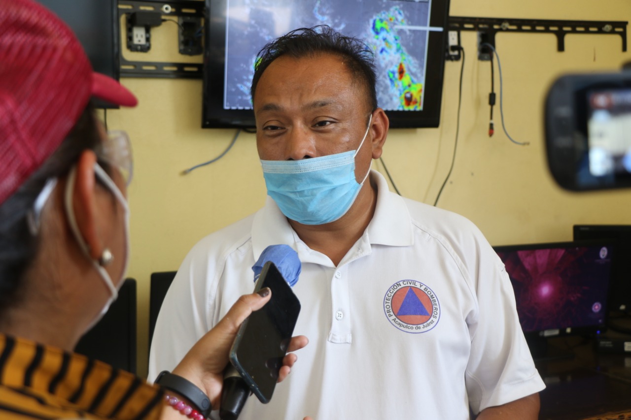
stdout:
<svg viewBox="0 0 631 420">
<path fill-rule="evenodd" d="M 402 197 L 388 189 L 386 178 L 375 170 L 370 171 L 370 180 L 377 185 L 377 206 L 375 214 L 364 233 L 368 235 L 371 244 L 404 247 L 413 245 L 413 235 L 410 229 L 411 218 Z M 362 239 L 360 239 L 362 240 Z M 285 215 L 280 211 L 276 202 L 267 197 L 265 206 L 254 216 L 252 223 L 252 252 L 254 260 L 258 260 L 268 245 L 289 245 L 298 253 L 302 262 L 317 262 L 322 264 L 319 256 L 298 238 Z M 314 255 L 318 254 L 318 255 Z"/>
</svg>

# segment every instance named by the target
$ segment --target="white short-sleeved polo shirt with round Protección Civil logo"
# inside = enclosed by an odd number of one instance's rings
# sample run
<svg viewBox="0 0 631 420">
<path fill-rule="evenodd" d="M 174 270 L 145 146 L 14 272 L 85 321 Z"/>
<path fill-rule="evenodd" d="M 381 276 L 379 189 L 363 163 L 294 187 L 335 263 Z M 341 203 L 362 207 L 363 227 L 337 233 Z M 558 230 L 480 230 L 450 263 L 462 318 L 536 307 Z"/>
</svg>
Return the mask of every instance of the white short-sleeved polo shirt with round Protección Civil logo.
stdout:
<svg viewBox="0 0 631 420">
<path fill-rule="evenodd" d="M 257 213 L 201 240 L 162 305 L 149 378 L 172 370 L 240 295 L 268 245 L 298 252 L 295 334 L 309 337 L 269 404 L 241 419 L 468 419 L 534 394 L 534 368 L 502 261 L 467 219 L 389 192 L 335 267 L 305 245 L 268 197 Z"/>
</svg>

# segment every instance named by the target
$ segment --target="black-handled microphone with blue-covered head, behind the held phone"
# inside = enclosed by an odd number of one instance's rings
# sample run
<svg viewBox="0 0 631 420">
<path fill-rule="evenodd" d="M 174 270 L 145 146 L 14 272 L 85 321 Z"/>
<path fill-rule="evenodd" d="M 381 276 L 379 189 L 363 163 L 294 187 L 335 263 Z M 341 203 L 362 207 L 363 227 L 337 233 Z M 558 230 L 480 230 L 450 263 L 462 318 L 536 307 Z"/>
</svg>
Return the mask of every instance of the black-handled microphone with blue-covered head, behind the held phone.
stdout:
<svg viewBox="0 0 631 420">
<path fill-rule="evenodd" d="M 298 254 L 289 245 L 269 245 L 261 252 L 261 257 L 252 266 L 254 281 L 261 275 L 261 270 L 266 262 L 271 261 L 283 275 L 285 281 L 293 286 L 298 281 L 298 275 L 302 264 Z M 250 387 L 245 383 L 239 371 L 228 363 L 223 373 L 223 387 L 221 389 L 221 406 L 219 417 L 221 420 L 237 420 L 245 401 L 252 394 Z"/>
</svg>

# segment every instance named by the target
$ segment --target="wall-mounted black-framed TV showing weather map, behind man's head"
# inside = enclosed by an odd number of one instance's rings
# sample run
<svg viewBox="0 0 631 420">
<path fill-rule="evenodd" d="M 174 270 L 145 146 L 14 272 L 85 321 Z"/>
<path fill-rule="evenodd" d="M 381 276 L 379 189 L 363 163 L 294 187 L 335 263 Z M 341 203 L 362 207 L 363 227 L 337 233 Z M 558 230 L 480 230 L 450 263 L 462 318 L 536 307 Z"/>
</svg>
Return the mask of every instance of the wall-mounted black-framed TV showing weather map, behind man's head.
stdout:
<svg viewBox="0 0 631 420">
<path fill-rule="evenodd" d="M 323 24 L 372 47 L 377 105 L 391 127 L 439 126 L 449 0 L 206 0 L 206 14 L 205 128 L 254 127 L 257 52 Z"/>
</svg>

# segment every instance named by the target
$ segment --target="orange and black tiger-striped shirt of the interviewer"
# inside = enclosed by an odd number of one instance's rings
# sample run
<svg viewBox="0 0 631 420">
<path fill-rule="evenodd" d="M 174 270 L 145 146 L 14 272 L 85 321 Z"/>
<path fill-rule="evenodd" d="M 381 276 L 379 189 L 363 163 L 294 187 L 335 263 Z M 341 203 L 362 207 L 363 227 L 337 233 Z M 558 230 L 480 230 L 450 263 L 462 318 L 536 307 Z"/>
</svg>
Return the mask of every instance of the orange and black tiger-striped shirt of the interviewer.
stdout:
<svg viewBox="0 0 631 420">
<path fill-rule="evenodd" d="M 163 392 L 80 354 L 0 334 L 0 419 L 153 420 Z"/>
</svg>

